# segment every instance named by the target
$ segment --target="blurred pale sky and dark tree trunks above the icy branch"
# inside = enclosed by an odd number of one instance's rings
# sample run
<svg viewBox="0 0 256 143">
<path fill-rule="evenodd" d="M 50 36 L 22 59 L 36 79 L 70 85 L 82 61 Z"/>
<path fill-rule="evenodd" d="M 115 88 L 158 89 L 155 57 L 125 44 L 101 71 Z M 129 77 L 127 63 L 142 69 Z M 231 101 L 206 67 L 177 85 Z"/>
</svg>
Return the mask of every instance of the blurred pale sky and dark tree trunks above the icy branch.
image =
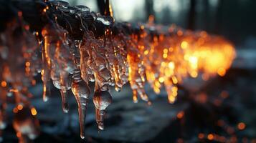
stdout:
<svg viewBox="0 0 256 143">
<path fill-rule="evenodd" d="M 66 0 L 100 12 L 100 0 Z M 110 0 L 116 21 L 177 24 L 184 29 L 220 34 L 234 44 L 253 42 L 256 35 L 256 1 L 253 0 Z"/>
</svg>

